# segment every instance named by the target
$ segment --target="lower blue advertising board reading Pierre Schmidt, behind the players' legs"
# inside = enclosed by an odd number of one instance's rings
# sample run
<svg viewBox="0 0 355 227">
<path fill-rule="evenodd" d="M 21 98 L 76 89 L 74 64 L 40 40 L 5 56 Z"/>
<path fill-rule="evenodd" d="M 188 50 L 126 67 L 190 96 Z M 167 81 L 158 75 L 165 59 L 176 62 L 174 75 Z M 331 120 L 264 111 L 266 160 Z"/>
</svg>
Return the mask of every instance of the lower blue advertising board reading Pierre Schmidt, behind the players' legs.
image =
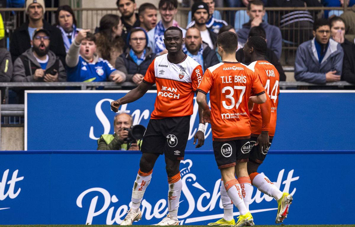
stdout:
<svg viewBox="0 0 355 227">
<path fill-rule="evenodd" d="M 119 224 L 130 206 L 140 156 L 139 151 L 0 151 L 0 225 Z M 354 160 L 355 151 L 269 151 L 259 172 L 293 195 L 285 224 L 354 224 L 355 183 L 352 172 L 343 170 Z M 213 152 L 187 151 L 180 172 L 180 224 L 220 219 Z M 158 223 L 167 212 L 167 196 L 159 157 L 141 204 L 142 220 L 134 224 Z M 250 211 L 256 225 L 272 225 L 277 202 L 254 188 Z"/>
</svg>

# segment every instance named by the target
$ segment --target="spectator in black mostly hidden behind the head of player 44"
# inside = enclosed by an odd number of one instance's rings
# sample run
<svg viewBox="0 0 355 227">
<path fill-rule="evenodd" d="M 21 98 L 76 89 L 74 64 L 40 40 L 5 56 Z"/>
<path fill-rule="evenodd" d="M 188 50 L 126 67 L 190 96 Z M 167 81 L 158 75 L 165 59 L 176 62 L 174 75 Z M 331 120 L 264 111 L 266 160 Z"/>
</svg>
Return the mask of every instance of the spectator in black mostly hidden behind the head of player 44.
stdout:
<svg viewBox="0 0 355 227">
<path fill-rule="evenodd" d="M 249 37 L 252 36 L 260 36 L 263 39 L 266 40 L 266 34 L 265 34 L 265 30 L 261 27 L 261 26 L 256 26 L 256 27 L 252 27 L 249 31 Z M 266 40 L 267 41 L 267 40 Z M 277 71 L 279 72 L 280 75 L 280 81 L 286 81 L 286 75 L 285 72 L 281 66 L 281 63 L 278 59 L 278 57 L 276 56 L 276 54 L 274 53 L 274 51 L 272 51 L 271 49 L 267 48 L 266 49 L 266 53 L 265 53 L 265 60 L 272 63 L 275 68 L 277 69 Z M 244 56 L 244 52 L 243 49 L 239 49 L 237 50 L 237 52 L 235 53 L 235 58 L 246 65 L 249 65 L 245 62 L 245 56 Z"/>
</svg>

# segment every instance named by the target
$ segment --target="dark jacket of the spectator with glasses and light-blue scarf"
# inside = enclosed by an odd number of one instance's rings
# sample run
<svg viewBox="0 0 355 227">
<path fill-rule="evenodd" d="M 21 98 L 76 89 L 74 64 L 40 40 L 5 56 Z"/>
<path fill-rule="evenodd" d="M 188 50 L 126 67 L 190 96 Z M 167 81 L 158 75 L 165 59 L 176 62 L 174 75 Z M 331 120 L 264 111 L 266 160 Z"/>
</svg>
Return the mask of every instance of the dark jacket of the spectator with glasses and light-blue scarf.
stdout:
<svg viewBox="0 0 355 227">
<path fill-rule="evenodd" d="M 116 59 L 115 68 L 126 74 L 126 81 L 133 82 L 133 75 L 139 73 L 144 76 L 156 56 L 151 48 L 146 47 L 146 59 L 138 66 L 130 56 L 130 48 L 127 48 L 126 52 Z"/>
</svg>

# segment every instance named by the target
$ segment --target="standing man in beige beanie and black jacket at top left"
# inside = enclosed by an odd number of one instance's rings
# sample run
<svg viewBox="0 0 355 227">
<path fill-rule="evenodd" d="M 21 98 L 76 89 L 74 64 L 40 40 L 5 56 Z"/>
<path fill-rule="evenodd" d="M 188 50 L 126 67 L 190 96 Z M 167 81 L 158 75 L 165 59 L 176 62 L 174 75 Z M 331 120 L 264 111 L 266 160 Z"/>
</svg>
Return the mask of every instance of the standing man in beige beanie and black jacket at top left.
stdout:
<svg viewBox="0 0 355 227">
<path fill-rule="evenodd" d="M 62 63 L 65 62 L 65 48 L 61 32 L 55 26 L 50 25 L 43 19 L 45 6 L 43 0 L 27 0 L 26 14 L 28 21 L 18 27 L 12 34 L 10 41 L 10 53 L 14 62 L 18 56 L 31 48 L 31 40 L 33 32 L 38 28 L 44 28 L 48 31 L 50 37 L 49 49 L 60 58 Z"/>
</svg>

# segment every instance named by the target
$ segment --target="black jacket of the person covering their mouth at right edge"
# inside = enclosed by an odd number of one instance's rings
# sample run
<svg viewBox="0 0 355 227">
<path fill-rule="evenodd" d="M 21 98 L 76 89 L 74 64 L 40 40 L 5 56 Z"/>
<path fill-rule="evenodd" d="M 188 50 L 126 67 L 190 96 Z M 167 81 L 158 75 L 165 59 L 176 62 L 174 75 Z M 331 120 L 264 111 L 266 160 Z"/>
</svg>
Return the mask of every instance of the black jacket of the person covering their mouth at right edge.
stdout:
<svg viewBox="0 0 355 227">
<path fill-rule="evenodd" d="M 345 39 L 341 45 L 344 50 L 341 80 L 355 84 L 355 44 Z"/>
</svg>

